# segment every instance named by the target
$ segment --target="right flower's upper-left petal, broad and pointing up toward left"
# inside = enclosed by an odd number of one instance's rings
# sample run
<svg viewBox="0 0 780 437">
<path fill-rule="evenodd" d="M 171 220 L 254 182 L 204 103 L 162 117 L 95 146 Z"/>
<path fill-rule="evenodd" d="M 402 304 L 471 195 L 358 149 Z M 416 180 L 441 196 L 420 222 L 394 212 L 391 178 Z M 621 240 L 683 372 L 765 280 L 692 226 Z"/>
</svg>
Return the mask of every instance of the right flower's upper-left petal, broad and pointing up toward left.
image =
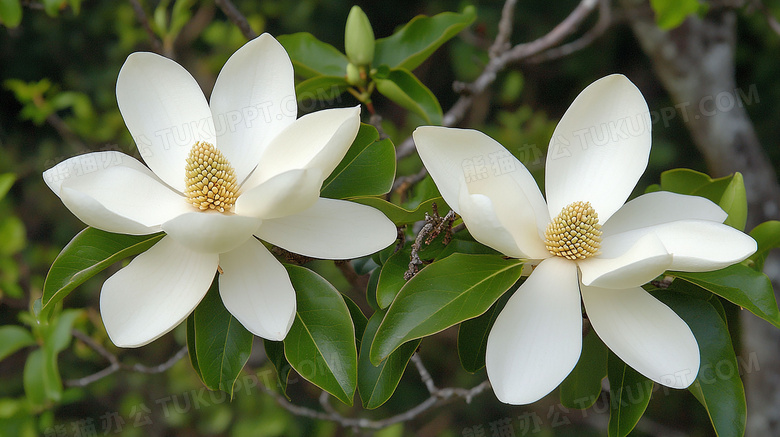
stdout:
<svg viewBox="0 0 780 437">
<path fill-rule="evenodd" d="M 460 200 L 466 187 L 468 194 L 484 195 L 493 205 L 487 214 L 495 215 L 523 252 L 533 258 L 549 255 L 540 238 L 550 221 L 547 207 L 536 181 L 517 158 L 494 139 L 471 129 L 422 126 L 412 135 L 420 158 L 450 207 L 463 215 Z"/>
</svg>

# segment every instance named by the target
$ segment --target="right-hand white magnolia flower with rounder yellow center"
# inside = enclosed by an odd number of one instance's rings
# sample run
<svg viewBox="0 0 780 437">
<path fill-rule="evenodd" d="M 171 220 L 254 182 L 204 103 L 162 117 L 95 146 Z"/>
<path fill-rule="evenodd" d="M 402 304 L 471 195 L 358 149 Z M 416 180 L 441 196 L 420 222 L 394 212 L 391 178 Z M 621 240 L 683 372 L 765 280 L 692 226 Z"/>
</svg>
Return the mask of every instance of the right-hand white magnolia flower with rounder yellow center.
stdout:
<svg viewBox="0 0 780 437">
<path fill-rule="evenodd" d="M 480 132 L 421 127 L 414 140 L 475 239 L 541 260 L 488 338 L 487 373 L 501 401 L 535 402 L 571 372 L 582 349 L 580 299 L 628 365 L 669 387 L 693 382 L 696 339 L 640 286 L 666 270 L 726 267 L 756 243 L 701 197 L 655 192 L 624 205 L 650 153 L 647 104 L 628 79 L 594 82 L 564 114 L 547 154 L 546 203 L 528 170 Z"/>
</svg>

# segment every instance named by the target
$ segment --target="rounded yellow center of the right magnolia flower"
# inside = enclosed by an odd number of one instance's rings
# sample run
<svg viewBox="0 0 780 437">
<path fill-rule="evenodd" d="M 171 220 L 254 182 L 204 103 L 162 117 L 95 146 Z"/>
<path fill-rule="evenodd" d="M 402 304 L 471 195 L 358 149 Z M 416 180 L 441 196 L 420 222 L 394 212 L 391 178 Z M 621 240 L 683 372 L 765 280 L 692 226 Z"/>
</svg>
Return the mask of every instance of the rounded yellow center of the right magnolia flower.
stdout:
<svg viewBox="0 0 780 437">
<path fill-rule="evenodd" d="M 598 254 L 601 247 L 599 215 L 590 202 L 566 205 L 544 231 L 544 244 L 555 256 L 585 259 Z"/>
</svg>

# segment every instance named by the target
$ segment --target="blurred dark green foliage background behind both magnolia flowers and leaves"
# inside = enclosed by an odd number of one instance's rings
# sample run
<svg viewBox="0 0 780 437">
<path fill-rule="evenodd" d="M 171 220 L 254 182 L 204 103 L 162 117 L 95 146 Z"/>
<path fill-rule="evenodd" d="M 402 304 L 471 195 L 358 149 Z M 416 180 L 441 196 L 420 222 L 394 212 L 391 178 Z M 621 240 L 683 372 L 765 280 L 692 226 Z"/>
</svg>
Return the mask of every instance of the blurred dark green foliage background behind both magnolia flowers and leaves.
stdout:
<svg viewBox="0 0 780 437">
<path fill-rule="evenodd" d="M 10 3 L 0 0 L 0 7 Z M 43 3 L 24 1 L 18 27 L 0 26 L 0 174 L 16 182 L 0 200 L 0 325 L 20 324 L 20 314 L 40 297 L 43 280 L 57 253 L 84 225 L 70 214 L 45 186 L 41 173 L 57 162 L 87 151 L 118 149 L 137 152 L 119 114 L 114 86 L 119 68 L 134 51 L 151 50 L 147 33 L 131 2 L 85 1 Z M 209 95 L 225 60 L 246 40 L 214 2 L 143 2 L 151 26 L 166 50 L 190 71 Z M 368 15 L 377 37 L 417 14 L 459 11 L 467 2 L 357 2 Z M 515 15 L 514 43 L 548 32 L 571 11 L 574 1 L 520 2 Z M 53 6 L 52 6 L 53 5 Z M 78 13 L 74 6 L 78 5 Z M 282 35 L 307 31 L 343 49 L 344 22 L 352 2 L 344 0 L 241 1 L 236 7 L 257 33 Z M 495 36 L 503 2 L 481 1 L 477 21 L 446 44 L 415 73 L 440 99 L 446 111 L 457 100 L 453 81 L 469 82 L 487 61 L 485 44 Z M 771 5 L 774 6 L 774 5 Z M 155 12 L 158 11 L 158 12 Z M 160 12 L 162 11 L 162 12 Z M 166 14 L 167 13 L 167 14 Z M 755 99 L 746 105 L 761 143 L 772 162 L 780 163 L 777 126 L 780 123 L 780 37 L 755 10 L 738 9 L 737 84 Z M 592 25 L 595 17 L 586 21 Z M 586 26 L 587 27 L 587 26 Z M 502 72 L 489 91 L 476 98 L 463 126 L 478 128 L 499 140 L 524 160 L 537 176 L 556 121 L 587 84 L 610 73 L 627 75 L 659 116 L 653 129 L 648 171 L 638 189 L 657 182 L 661 171 L 688 167 L 708 171 L 680 113 L 674 107 L 649 58 L 638 45 L 624 17 L 589 47 L 559 60 L 523 63 Z M 734 90 L 724 90 L 732 91 Z M 337 106 L 356 102 L 344 94 Z M 385 131 L 400 144 L 420 120 L 378 97 L 377 111 Z M 666 109 L 665 109 L 666 108 Z M 664 116 L 664 114 L 666 114 Z M 663 117 L 662 117 L 663 116 Z M 399 164 L 399 174 L 412 174 L 419 160 Z M 88 281 L 65 301 L 68 308 L 87 308 L 75 327 L 90 338 L 109 344 L 97 312 L 103 280 L 118 266 Z M 348 287 L 332 263 L 320 266 L 336 285 Z M 117 350 L 123 363 L 156 365 L 184 344 L 177 329 L 140 349 Z M 467 374 L 455 352 L 456 331 L 448 330 L 423 341 L 420 354 L 439 387 L 471 387 L 485 379 L 484 370 Z M 247 375 L 274 378 L 256 343 Z M 0 361 L 0 435 L 46 436 L 342 436 L 372 435 L 342 429 L 330 422 L 296 416 L 279 407 L 254 380 L 239 378 L 236 396 L 205 390 L 188 360 L 162 374 L 122 370 L 86 387 L 66 388 L 61 402 L 46 408 L 30 406 L 24 395 L 22 370 L 27 351 Z M 106 367 L 106 359 L 81 340 L 59 356 L 66 381 Z M 293 402 L 315 409 L 319 391 L 303 382 L 290 382 Z M 405 411 L 428 396 L 413 367 L 386 405 L 375 411 L 336 405 L 344 415 L 381 419 Z M 359 404 L 359 403 L 358 403 Z M 566 410 L 555 393 L 523 407 L 499 403 L 490 391 L 470 404 L 456 400 L 403 425 L 375 435 L 500 436 L 603 435 L 607 413 L 604 401 L 586 411 Z M 750 414 L 750 406 L 749 406 Z M 677 434 L 675 434 L 677 433 Z M 632 435 L 714 435 L 704 409 L 687 391 L 663 390 Z"/>
</svg>

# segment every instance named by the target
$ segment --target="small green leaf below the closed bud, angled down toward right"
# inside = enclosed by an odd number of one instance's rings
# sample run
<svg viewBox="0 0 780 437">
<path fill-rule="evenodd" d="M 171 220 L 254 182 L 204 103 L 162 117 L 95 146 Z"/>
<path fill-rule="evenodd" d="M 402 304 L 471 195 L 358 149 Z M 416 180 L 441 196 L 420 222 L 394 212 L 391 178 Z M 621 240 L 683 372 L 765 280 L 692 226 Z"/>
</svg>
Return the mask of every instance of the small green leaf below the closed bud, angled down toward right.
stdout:
<svg viewBox="0 0 780 437">
<path fill-rule="evenodd" d="M 441 124 L 442 111 L 439 101 L 409 70 L 380 69 L 372 79 L 376 83 L 376 90 L 383 96 L 419 115 L 428 124 Z"/>
</svg>

